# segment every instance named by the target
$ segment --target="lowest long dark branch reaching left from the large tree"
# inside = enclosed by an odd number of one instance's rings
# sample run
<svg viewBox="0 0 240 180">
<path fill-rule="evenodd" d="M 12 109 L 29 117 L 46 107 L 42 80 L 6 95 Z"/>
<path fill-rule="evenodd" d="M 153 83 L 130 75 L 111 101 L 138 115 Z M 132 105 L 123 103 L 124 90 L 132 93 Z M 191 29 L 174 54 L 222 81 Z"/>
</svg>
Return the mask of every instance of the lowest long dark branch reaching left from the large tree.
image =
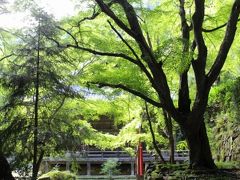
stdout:
<svg viewBox="0 0 240 180">
<path fill-rule="evenodd" d="M 104 82 L 91 82 L 91 84 L 96 84 L 98 85 L 99 88 L 102 88 L 102 87 L 111 87 L 111 88 L 117 88 L 117 89 L 122 89 L 124 91 L 127 91 L 135 96 L 138 96 L 142 99 L 144 99 L 146 102 L 156 106 L 156 107 L 162 107 L 162 104 L 157 102 L 157 101 L 154 101 L 153 99 L 147 97 L 145 94 L 137 91 L 137 90 L 134 90 L 134 89 L 131 89 L 125 85 L 122 85 L 122 84 L 110 84 L 110 83 L 104 83 Z"/>
</svg>

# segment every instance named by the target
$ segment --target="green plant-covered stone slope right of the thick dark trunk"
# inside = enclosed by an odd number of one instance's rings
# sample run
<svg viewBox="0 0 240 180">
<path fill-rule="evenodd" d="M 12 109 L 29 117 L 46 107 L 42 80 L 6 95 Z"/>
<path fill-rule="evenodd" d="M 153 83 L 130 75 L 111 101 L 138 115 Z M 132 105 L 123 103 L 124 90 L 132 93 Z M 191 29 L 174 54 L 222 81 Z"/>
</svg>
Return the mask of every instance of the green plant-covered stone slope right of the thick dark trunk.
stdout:
<svg viewBox="0 0 240 180">
<path fill-rule="evenodd" d="M 212 90 L 207 115 L 213 130 L 214 155 L 220 161 L 240 158 L 239 88 L 239 78 L 231 78 L 221 81 Z"/>
</svg>

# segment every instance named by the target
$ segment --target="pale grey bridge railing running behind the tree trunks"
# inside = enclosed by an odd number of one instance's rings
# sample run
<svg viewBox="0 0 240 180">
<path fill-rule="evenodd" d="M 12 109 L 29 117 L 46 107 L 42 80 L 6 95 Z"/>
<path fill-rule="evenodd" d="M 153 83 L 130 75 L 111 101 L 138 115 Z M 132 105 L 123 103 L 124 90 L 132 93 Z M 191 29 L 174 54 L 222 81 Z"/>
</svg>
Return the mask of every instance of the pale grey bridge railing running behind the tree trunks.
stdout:
<svg viewBox="0 0 240 180">
<path fill-rule="evenodd" d="M 165 150 L 162 151 L 164 159 L 169 160 L 170 152 Z M 48 172 L 50 167 L 56 165 L 65 166 L 66 170 L 70 169 L 72 161 L 77 161 L 79 164 L 87 167 L 87 175 L 91 174 L 91 164 L 102 164 L 109 158 L 116 158 L 122 164 L 128 164 L 131 168 L 131 175 L 134 175 L 134 164 L 136 162 L 136 156 L 130 156 L 125 151 L 81 151 L 81 152 L 66 152 L 65 157 L 45 157 L 42 161 L 42 167 L 44 172 Z M 176 162 L 187 161 L 188 151 L 176 151 L 175 157 Z M 155 156 L 151 152 L 143 151 L 143 161 L 147 167 L 147 164 L 152 163 L 155 160 L 160 160 L 158 156 Z"/>
</svg>

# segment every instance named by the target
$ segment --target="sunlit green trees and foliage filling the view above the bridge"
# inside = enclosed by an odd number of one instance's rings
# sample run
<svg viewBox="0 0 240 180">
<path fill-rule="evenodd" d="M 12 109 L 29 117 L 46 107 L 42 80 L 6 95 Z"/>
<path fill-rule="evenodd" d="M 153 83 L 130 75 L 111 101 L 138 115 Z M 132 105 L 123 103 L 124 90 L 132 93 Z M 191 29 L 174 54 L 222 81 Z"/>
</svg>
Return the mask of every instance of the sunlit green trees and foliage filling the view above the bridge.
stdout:
<svg viewBox="0 0 240 180">
<path fill-rule="evenodd" d="M 192 169 L 239 161 L 239 0 L 74 3 L 56 19 L 37 1 L 0 1 L 1 14 L 29 19 L 0 27 L 0 153 L 11 169 L 36 179 L 46 156 L 83 145 L 134 156 L 140 140 L 160 157 L 169 149 L 171 163 L 190 150 Z M 94 127 L 104 119 L 111 132 Z"/>
</svg>

